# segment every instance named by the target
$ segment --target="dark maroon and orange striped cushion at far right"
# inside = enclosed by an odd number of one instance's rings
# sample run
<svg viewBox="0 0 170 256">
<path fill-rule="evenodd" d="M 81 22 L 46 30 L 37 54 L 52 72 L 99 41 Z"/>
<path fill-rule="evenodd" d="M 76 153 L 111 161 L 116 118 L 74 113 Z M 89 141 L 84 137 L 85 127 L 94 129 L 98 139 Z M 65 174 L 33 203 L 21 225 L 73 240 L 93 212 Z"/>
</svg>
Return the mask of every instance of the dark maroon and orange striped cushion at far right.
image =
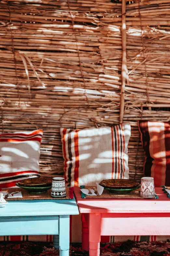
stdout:
<svg viewBox="0 0 170 256">
<path fill-rule="evenodd" d="M 145 150 L 145 176 L 153 177 L 155 187 L 170 186 L 170 122 L 138 121 Z"/>
</svg>

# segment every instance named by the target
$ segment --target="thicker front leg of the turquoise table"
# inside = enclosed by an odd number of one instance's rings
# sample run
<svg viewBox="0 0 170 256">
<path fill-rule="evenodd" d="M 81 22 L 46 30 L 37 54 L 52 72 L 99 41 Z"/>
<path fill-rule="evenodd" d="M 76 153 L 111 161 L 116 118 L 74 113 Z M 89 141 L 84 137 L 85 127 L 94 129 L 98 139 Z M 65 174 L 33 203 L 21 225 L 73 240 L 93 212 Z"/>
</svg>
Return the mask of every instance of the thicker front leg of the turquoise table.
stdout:
<svg viewBox="0 0 170 256">
<path fill-rule="evenodd" d="M 60 215 L 59 219 L 59 256 L 69 256 L 70 216 Z"/>
</svg>

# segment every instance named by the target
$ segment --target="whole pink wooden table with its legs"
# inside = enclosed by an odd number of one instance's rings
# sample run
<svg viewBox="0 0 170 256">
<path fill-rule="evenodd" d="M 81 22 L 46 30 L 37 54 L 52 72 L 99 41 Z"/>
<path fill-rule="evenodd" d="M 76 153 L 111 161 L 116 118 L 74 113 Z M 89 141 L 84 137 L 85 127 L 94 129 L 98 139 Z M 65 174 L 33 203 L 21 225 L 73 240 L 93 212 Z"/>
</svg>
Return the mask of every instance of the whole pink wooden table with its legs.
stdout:
<svg viewBox="0 0 170 256">
<path fill-rule="evenodd" d="M 79 187 L 74 191 L 87 224 L 82 249 L 90 256 L 100 255 L 101 235 L 170 235 L 170 199 L 162 188 L 155 188 L 159 199 L 84 199 Z"/>
</svg>

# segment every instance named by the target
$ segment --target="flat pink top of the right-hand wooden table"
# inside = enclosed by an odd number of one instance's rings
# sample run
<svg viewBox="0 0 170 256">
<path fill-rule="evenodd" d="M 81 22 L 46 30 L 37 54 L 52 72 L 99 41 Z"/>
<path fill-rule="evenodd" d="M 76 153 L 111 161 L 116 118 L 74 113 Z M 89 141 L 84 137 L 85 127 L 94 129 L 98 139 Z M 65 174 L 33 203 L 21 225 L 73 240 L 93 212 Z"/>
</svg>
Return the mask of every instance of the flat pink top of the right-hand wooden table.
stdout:
<svg viewBox="0 0 170 256">
<path fill-rule="evenodd" d="M 95 199 L 81 198 L 79 187 L 74 194 L 80 213 L 169 213 L 170 199 L 162 188 L 155 188 L 158 199 Z"/>
</svg>

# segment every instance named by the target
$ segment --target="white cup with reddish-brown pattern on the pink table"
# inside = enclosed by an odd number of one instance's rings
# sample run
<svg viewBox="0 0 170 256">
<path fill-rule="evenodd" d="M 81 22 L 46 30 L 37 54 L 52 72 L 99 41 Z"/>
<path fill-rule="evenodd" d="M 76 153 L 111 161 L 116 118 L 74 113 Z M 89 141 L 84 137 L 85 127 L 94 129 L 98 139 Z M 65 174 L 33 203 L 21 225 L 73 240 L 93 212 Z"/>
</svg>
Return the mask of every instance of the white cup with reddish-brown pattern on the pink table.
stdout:
<svg viewBox="0 0 170 256">
<path fill-rule="evenodd" d="M 140 197 L 155 198 L 154 180 L 152 177 L 141 178 Z"/>
</svg>

